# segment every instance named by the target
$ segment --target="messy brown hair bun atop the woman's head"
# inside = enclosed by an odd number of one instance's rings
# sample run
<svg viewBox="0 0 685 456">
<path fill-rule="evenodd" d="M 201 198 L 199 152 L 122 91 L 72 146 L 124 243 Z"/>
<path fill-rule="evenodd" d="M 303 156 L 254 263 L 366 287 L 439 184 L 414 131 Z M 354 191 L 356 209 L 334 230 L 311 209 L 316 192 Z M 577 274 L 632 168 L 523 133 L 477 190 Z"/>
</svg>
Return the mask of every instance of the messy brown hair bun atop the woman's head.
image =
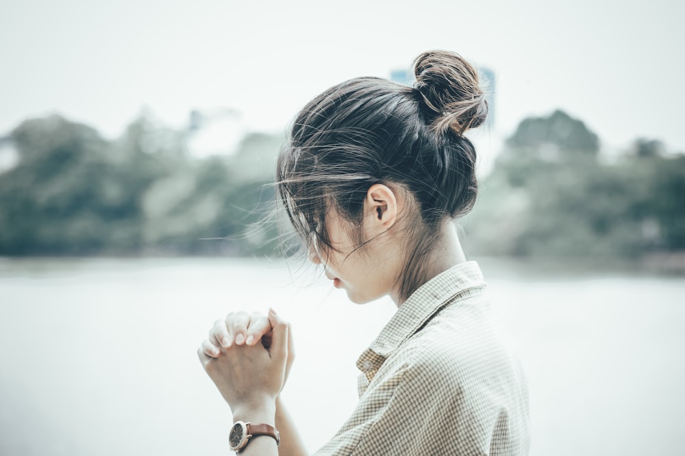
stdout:
<svg viewBox="0 0 685 456">
<path fill-rule="evenodd" d="M 478 72 L 459 54 L 428 51 L 414 61 L 414 88 L 431 115 L 431 129 L 457 135 L 485 121 L 488 102 L 478 85 Z"/>
</svg>

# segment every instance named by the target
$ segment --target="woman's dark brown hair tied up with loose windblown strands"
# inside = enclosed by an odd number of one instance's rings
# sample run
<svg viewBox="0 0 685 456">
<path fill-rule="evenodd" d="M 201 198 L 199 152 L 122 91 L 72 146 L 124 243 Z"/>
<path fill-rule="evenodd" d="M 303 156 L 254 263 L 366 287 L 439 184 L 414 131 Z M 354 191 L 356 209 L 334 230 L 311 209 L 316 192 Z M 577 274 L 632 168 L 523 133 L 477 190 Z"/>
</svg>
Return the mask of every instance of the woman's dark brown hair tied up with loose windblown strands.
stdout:
<svg viewBox="0 0 685 456">
<path fill-rule="evenodd" d="M 392 234 L 385 248 L 399 258 L 402 300 L 425 282 L 425 259 L 445 219 L 475 203 L 475 149 L 463 133 L 488 111 L 477 72 L 459 55 L 423 53 L 414 73 L 415 88 L 364 77 L 326 90 L 295 118 L 277 164 L 279 196 L 310 252 L 336 254 L 338 262 L 369 256 Z M 391 223 L 388 201 L 371 189 L 395 198 Z M 331 219 L 345 228 L 342 247 Z"/>
</svg>

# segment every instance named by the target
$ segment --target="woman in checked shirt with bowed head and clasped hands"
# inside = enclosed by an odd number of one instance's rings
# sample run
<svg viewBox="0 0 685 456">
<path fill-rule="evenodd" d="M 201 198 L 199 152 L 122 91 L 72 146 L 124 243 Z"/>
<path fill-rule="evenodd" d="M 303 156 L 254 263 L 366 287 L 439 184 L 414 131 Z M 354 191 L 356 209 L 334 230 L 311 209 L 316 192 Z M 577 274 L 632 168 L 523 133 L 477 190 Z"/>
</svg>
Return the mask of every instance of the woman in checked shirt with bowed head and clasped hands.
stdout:
<svg viewBox="0 0 685 456">
<path fill-rule="evenodd" d="M 475 203 L 464 133 L 488 105 L 455 53 L 423 53 L 414 72 L 414 88 L 358 78 L 323 92 L 277 163 L 280 199 L 310 259 L 351 301 L 390 295 L 398 306 L 358 360 L 356 410 L 316 454 L 526 454 L 525 380 L 492 330 L 482 275 L 453 224 Z M 273 311 L 229 314 L 198 351 L 232 407 L 241 454 L 305 454 L 278 397 L 289 331 Z"/>
</svg>

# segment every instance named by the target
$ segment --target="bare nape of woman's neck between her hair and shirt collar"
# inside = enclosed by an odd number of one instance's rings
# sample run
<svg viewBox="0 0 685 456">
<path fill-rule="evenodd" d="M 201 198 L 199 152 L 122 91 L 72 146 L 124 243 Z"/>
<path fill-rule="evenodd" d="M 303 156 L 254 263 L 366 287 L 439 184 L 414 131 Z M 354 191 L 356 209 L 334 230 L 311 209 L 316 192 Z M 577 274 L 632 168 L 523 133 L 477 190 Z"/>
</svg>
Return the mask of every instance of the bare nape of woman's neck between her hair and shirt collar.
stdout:
<svg viewBox="0 0 685 456">
<path fill-rule="evenodd" d="M 425 269 L 423 270 L 423 283 L 428 282 L 438 274 L 447 271 L 451 267 L 464 263 L 466 256 L 459 241 L 455 222 L 451 219 L 445 220 L 436 233 L 433 248 L 425 258 Z M 423 283 L 417 284 L 417 288 Z M 390 295 L 397 304 L 401 306 L 406 297 L 399 296 L 399 293 Z"/>
</svg>

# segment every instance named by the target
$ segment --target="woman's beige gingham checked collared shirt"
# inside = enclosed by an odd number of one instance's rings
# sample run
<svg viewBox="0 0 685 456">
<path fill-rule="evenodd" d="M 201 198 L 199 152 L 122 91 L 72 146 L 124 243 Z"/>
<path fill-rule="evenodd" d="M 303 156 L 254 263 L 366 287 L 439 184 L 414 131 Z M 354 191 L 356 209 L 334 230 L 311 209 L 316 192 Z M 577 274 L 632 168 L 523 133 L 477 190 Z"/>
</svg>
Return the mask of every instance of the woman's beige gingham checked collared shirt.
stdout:
<svg viewBox="0 0 685 456">
<path fill-rule="evenodd" d="M 357 361 L 360 400 L 316 455 L 526 455 L 527 385 L 475 262 L 407 299 Z"/>
</svg>

